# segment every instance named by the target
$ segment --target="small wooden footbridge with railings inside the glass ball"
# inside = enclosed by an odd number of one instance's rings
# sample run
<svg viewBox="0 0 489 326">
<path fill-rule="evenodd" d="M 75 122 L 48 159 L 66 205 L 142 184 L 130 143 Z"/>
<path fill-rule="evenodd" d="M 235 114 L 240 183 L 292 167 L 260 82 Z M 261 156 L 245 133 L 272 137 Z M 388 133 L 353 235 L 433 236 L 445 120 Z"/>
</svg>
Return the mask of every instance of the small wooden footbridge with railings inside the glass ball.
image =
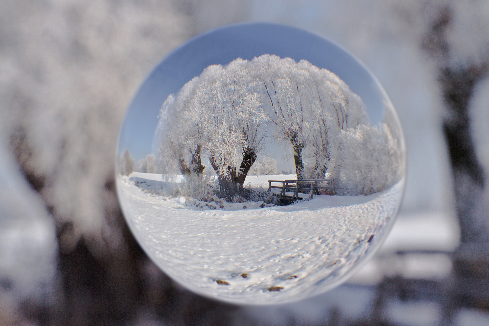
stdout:
<svg viewBox="0 0 489 326">
<path fill-rule="evenodd" d="M 333 189 L 333 179 L 268 180 L 267 192 L 277 195 L 282 200 L 294 201 L 311 199 L 312 195 L 320 195 L 321 190 Z"/>
</svg>

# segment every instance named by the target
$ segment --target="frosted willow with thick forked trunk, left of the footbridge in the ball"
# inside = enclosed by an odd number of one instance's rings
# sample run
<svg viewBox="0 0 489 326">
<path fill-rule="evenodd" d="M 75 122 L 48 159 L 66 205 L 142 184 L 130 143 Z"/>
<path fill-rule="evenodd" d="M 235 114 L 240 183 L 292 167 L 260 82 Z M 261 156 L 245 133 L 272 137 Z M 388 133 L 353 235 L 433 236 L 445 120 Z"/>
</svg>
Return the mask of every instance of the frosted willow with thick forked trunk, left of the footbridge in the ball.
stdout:
<svg viewBox="0 0 489 326">
<path fill-rule="evenodd" d="M 268 117 L 256 81 L 235 60 L 211 65 L 165 101 L 158 125 L 162 162 L 184 175 L 201 174 L 205 153 L 218 175 L 221 192 L 234 195 L 264 146 Z"/>
</svg>

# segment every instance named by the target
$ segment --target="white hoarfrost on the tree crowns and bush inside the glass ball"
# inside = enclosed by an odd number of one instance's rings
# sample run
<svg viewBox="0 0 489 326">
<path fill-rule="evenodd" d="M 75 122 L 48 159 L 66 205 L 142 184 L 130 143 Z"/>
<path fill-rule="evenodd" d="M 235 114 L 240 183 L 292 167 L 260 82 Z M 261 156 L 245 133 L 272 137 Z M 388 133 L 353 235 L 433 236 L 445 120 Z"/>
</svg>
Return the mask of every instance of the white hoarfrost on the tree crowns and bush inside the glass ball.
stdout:
<svg viewBox="0 0 489 326">
<path fill-rule="evenodd" d="M 168 96 L 156 130 L 167 173 L 200 174 L 210 168 L 205 157 L 221 186 L 243 186 L 253 163 L 250 174 L 274 174 L 261 171 L 266 158 L 255 162 L 273 142 L 291 148 L 299 178 L 332 175 L 337 194 L 369 195 L 400 180 L 400 144 L 389 126 L 371 126 L 360 97 L 305 60 L 262 55 L 208 66 Z"/>
</svg>

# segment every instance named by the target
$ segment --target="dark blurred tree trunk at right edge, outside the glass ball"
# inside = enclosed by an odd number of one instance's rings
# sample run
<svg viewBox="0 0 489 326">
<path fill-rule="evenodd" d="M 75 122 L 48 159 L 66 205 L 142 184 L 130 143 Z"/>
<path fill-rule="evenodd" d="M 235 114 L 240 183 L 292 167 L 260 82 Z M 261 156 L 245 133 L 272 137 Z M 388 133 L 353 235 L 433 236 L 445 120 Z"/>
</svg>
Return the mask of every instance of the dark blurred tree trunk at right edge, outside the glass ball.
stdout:
<svg viewBox="0 0 489 326">
<path fill-rule="evenodd" d="M 442 72 L 445 103 L 449 108 L 443 129 L 452 165 L 462 242 L 489 240 L 487 214 L 477 212 L 484 200 L 486 180 L 484 168 L 477 160 L 468 110 L 473 87 L 483 72 L 478 67 L 461 71 L 446 68 Z"/>
</svg>

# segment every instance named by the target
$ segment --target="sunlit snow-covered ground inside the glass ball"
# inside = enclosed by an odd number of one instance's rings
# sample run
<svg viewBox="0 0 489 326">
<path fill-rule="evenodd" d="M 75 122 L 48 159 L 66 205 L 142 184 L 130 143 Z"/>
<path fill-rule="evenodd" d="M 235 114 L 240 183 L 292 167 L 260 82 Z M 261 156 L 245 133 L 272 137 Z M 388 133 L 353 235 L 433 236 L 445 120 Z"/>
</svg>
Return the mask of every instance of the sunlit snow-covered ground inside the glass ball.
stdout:
<svg viewBox="0 0 489 326">
<path fill-rule="evenodd" d="M 224 203 L 221 209 L 196 210 L 189 209 L 189 203 L 195 206 L 191 198 L 182 203 L 136 185 L 168 184 L 157 178 L 132 174 L 117 180 L 139 243 L 189 289 L 247 304 L 297 301 L 341 281 L 383 238 L 403 183 L 370 196 L 314 196 L 256 209 L 243 209 L 248 202 Z"/>
</svg>

